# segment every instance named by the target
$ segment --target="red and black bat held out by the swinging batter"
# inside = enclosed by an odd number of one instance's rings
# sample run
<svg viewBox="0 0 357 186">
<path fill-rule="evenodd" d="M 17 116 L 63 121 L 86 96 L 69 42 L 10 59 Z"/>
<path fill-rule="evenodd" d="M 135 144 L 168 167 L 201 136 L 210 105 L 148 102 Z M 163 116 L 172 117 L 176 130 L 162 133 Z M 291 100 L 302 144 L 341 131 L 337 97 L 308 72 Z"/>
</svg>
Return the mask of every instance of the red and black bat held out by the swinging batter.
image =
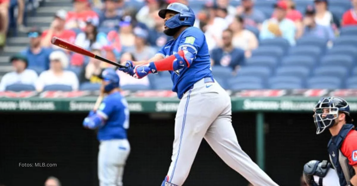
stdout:
<svg viewBox="0 0 357 186">
<path fill-rule="evenodd" d="M 63 39 L 60 39 L 58 37 L 53 37 L 52 40 L 51 40 L 51 43 L 56 45 L 56 46 L 59 46 L 61 48 L 67 49 L 69 51 L 76 52 L 76 53 L 79 53 L 79 54 L 82 54 L 82 55 L 86 55 L 88 57 L 101 60 L 102 62 L 106 62 L 106 63 L 112 64 L 112 65 L 115 65 L 117 68 L 126 68 L 124 65 L 121 65 L 121 64 L 112 62 L 111 60 L 102 58 L 102 57 L 100 57 L 98 55 L 95 55 L 94 53 L 92 53 L 90 51 L 87 51 L 86 49 L 84 49 L 84 48 L 82 48 L 80 46 L 77 46 L 77 45 L 75 45 L 73 43 L 70 43 L 70 42 L 65 41 Z"/>
</svg>

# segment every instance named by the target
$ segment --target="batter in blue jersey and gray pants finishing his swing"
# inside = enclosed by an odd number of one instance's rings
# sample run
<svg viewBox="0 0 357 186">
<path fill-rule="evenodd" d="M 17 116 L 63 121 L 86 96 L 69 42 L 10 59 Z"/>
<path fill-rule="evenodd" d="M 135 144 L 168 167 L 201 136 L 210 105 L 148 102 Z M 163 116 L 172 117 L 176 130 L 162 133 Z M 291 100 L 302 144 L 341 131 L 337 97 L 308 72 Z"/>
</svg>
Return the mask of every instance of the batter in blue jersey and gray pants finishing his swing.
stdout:
<svg viewBox="0 0 357 186">
<path fill-rule="evenodd" d="M 232 127 L 231 100 L 213 79 L 210 55 L 203 32 L 192 27 L 195 14 L 180 3 L 160 10 L 164 33 L 173 36 L 149 61 L 128 61 L 120 68 L 135 78 L 157 71 L 169 71 L 172 91 L 180 99 L 175 118 L 175 139 L 171 165 L 162 186 L 181 186 L 191 169 L 202 138 L 227 165 L 255 186 L 277 186 L 243 152 Z"/>
</svg>

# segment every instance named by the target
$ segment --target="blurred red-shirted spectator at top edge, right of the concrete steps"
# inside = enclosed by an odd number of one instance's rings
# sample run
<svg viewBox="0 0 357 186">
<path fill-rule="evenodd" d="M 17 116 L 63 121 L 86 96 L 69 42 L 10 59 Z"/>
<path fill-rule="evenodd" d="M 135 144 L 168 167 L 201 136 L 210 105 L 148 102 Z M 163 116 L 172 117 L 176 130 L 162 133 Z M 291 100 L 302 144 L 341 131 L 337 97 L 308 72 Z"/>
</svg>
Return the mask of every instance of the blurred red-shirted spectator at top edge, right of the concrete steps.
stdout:
<svg viewBox="0 0 357 186">
<path fill-rule="evenodd" d="M 74 11 L 70 11 L 66 18 L 66 28 L 81 28 L 86 27 L 86 21 L 96 19 L 99 22 L 99 17 L 95 11 L 89 6 L 88 0 L 74 0 Z"/>
</svg>

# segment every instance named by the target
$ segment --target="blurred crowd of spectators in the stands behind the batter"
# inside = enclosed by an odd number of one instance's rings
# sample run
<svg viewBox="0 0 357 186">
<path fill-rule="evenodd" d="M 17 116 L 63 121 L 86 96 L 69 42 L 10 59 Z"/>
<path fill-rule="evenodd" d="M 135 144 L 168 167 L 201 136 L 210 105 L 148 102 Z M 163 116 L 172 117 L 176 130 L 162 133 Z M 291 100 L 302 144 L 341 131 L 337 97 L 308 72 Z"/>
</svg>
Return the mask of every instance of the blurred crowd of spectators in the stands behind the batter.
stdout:
<svg viewBox="0 0 357 186">
<path fill-rule="evenodd" d="M 145 0 L 145 6 L 136 10 L 127 8 L 124 0 L 74 0 L 72 11 L 55 12 L 48 30 L 33 27 L 29 31 L 29 46 L 10 59 L 14 71 L 3 76 L 0 91 L 15 83 L 33 85 L 37 91 L 53 84 L 79 90 L 83 83 L 99 83 L 102 69 L 112 67 L 52 46 L 53 36 L 113 61 L 150 59 L 172 39 L 162 32 L 164 20 L 158 16 L 171 2 L 190 5 L 195 1 Z M 271 5 L 267 8 L 272 14 L 256 9 L 255 0 L 241 0 L 238 6 L 229 0 L 207 1 L 194 9 L 195 26 L 205 33 L 212 66 L 227 67 L 236 74 L 260 41 L 284 38 L 295 46 L 301 37 L 315 37 L 332 45 L 341 27 L 357 25 L 357 0 L 351 0 L 352 9 L 346 9 L 343 16 L 328 10 L 328 0 L 315 0 L 303 11 L 296 9 L 294 0 L 277 0 Z M 0 0 L 0 45 L 7 29 L 8 7 L 9 0 Z M 147 77 L 136 80 L 118 73 L 122 86 L 150 86 Z"/>
</svg>

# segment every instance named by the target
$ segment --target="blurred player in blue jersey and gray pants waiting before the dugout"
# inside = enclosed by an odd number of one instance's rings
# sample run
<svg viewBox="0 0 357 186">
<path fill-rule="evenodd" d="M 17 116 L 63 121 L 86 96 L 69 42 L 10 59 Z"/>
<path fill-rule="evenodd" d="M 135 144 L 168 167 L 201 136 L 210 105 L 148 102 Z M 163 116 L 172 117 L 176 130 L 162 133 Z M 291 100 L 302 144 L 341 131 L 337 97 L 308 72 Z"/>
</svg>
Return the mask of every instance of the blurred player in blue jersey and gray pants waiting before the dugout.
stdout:
<svg viewBox="0 0 357 186">
<path fill-rule="evenodd" d="M 119 76 L 108 68 L 101 75 L 102 94 L 107 94 L 96 111 L 84 119 L 83 126 L 98 129 L 100 141 L 98 177 L 100 186 L 122 185 L 124 165 L 130 153 L 126 130 L 129 128 L 129 108 L 120 94 Z"/>
</svg>

